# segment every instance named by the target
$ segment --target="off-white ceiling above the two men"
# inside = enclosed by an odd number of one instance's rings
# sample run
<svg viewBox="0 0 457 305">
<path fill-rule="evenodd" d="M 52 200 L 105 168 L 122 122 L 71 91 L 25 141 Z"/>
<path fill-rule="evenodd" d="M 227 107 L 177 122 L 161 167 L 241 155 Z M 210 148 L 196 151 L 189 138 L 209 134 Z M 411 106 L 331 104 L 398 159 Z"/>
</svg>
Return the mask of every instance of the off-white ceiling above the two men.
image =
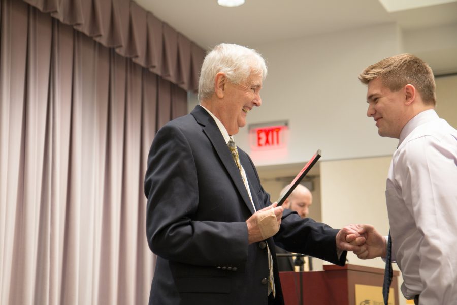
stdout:
<svg viewBox="0 0 457 305">
<path fill-rule="evenodd" d="M 135 1 L 205 49 L 221 42 L 254 47 L 382 23 L 404 30 L 457 24 L 455 0 L 402 0 L 404 5 L 394 8 L 389 0 L 246 0 L 236 8 L 217 0 Z M 421 7 L 412 7 L 418 3 Z"/>
</svg>

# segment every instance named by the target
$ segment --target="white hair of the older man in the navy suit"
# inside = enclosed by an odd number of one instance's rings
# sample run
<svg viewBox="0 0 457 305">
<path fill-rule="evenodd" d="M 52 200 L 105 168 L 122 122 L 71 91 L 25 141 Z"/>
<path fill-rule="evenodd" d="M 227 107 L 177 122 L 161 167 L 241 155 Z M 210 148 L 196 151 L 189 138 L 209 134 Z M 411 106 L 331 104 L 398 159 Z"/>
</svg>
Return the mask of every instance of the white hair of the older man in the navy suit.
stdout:
<svg viewBox="0 0 457 305">
<path fill-rule="evenodd" d="M 267 77 L 265 59 L 256 50 L 236 44 L 222 43 L 206 55 L 200 71 L 199 100 L 209 99 L 214 94 L 216 74 L 223 72 L 228 81 L 240 84 L 251 74 Z"/>
</svg>

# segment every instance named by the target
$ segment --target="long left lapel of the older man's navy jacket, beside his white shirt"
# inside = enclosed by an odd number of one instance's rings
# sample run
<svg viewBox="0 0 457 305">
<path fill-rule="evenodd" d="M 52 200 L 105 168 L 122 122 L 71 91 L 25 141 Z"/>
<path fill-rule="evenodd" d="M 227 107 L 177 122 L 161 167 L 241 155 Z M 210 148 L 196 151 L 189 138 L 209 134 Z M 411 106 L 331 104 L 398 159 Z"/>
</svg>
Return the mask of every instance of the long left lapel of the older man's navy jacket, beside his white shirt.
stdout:
<svg viewBox="0 0 457 305">
<path fill-rule="evenodd" d="M 231 179 L 233 180 L 238 192 L 243 198 L 244 203 L 251 211 L 251 213 L 254 214 L 254 208 L 252 206 L 251 199 L 249 198 L 249 194 L 247 193 L 243 179 L 241 178 L 240 171 L 232 158 L 230 149 L 228 149 L 227 143 L 225 143 L 216 122 L 211 117 L 211 115 L 200 106 L 196 106 L 192 110 L 191 114 L 195 117 L 195 120 L 197 120 L 197 122 L 203 126 L 203 132 L 208 137 L 214 149 L 216 150 L 217 155 L 227 170 L 228 175 L 230 175 Z"/>
</svg>

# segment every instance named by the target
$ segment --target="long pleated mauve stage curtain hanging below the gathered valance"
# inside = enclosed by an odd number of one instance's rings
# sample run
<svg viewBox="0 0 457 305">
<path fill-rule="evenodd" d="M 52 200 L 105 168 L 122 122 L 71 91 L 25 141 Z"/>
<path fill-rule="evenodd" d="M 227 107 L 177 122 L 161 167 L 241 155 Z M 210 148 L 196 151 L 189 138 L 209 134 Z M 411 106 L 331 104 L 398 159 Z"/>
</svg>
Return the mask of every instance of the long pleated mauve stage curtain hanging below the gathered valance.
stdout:
<svg viewBox="0 0 457 305">
<path fill-rule="evenodd" d="M 0 4 L 0 304 L 145 304 L 147 153 L 187 93 L 25 2 Z"/>
</svg>

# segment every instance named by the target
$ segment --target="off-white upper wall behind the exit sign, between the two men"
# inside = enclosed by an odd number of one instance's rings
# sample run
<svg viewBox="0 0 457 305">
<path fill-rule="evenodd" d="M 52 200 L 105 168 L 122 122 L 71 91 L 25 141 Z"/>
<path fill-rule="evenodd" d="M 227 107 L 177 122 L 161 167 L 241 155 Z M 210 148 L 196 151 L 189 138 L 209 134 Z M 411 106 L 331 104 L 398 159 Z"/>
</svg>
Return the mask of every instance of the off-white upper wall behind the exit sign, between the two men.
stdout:
<svg viewBox="0 0 457 305">
<path fill-rule="evenodd" d="M 385 24 L 254 46 L 267 58 L 269 75 L 262 107 L 248 113 L 248 123 L 288 119 L 291 130 L 286 155 L 251 154 L 255 164 L 305 162 L 318 148 L 322 160 L 391 154 L 397 143 L 373 136 L 377 129 L 366 116 L 366 86 L 357 76 L 399 53 L 400 40 L 398 28 Z M 250 151 L 247 128 L 235 140 Z"/>
</svg>

